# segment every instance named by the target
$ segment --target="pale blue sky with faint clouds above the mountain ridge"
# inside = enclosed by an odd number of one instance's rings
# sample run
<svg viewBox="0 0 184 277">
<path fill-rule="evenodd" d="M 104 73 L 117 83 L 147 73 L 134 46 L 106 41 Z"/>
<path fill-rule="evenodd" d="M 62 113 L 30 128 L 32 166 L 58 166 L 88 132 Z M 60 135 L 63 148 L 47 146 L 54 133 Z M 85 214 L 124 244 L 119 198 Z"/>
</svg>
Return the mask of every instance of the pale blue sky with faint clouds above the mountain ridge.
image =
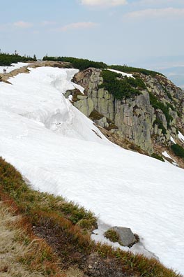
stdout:
<svg viewBox="0 0 184 277">
<path fill-rule="evenodd" d="M 184 64 L 183 29 L 184 0 L 1 0 L 1 51 L 38 58 Z"/>
</svg>

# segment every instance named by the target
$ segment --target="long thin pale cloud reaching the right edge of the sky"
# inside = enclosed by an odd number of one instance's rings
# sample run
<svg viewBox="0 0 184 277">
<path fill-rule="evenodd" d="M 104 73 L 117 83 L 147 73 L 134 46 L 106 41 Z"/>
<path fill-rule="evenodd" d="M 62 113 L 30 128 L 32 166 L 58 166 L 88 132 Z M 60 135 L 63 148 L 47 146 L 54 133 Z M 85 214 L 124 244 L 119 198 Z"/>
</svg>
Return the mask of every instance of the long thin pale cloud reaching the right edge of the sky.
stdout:
<svg viewBox="0 0 184 277">
<path fill-rule="evenodd" d="M 158 17 L 183 17 L 184 8 L 148 8 L 146 10 L 136 10 L 131 13 L 126 13 L 124 18 L 128 19 L 145 19 L 145 18 L 158 18 Z"/>
</svg>

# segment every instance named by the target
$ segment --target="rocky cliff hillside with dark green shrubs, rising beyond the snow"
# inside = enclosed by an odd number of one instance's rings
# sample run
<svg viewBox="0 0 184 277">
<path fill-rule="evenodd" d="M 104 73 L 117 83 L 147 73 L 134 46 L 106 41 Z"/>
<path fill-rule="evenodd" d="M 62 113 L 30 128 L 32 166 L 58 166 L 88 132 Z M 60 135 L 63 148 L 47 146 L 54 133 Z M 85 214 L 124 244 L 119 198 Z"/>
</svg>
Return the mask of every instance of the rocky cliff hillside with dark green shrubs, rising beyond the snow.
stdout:
<svg viewBox="0 0 184 277">
<path fill-rule="evenodd" d="M 91 68 L 79 72 L 74 81 L 85 88 L 84 99 L 75 98 L 74 106 L 110 131 L 109 137 L 116 135 L 124 145 L 128 141 L 146 155 L 165 159 L 162 153 L 167 152 L 172 162 L 184 166 L 183 159 L 171 150 L 173 143 L 184 146 L 183 90 L 158 73 L 151 76 L 132 72 L 131 76 Z"/>
</svg>

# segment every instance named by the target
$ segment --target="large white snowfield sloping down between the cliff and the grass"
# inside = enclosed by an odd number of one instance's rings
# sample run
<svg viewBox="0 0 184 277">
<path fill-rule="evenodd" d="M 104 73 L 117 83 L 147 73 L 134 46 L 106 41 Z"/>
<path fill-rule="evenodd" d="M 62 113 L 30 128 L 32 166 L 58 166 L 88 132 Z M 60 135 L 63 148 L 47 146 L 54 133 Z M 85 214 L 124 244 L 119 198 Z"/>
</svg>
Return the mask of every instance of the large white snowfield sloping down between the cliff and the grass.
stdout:
<svg viewBox="0 0 184 277">
<path fill-rule="evenodd" d="M 0 155 L 36 189 L 130 227 L 164 265 L 184 273 L 184 171 L 107 141 L 61 94 L 76 72 L 31 69 L 13 85 L 0 83 Z"/>
</svg>

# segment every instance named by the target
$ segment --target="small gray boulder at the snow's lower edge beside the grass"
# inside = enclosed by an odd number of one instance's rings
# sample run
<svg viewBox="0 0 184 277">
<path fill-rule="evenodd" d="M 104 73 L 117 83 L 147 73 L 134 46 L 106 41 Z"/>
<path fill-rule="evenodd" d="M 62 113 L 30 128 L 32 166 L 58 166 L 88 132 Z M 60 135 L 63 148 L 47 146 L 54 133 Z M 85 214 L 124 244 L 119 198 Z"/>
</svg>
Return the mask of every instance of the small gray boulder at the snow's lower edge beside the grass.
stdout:
<svg viewBox="0 0 184 277">
<path fill-rule="evenodd" d="M 116 233 L 119 235 L 123 246 L 130 247 L 135 243 L 136 239 L 130 228 L 114 226 L 111 229 L 116 231 Z"/>
</svg>

